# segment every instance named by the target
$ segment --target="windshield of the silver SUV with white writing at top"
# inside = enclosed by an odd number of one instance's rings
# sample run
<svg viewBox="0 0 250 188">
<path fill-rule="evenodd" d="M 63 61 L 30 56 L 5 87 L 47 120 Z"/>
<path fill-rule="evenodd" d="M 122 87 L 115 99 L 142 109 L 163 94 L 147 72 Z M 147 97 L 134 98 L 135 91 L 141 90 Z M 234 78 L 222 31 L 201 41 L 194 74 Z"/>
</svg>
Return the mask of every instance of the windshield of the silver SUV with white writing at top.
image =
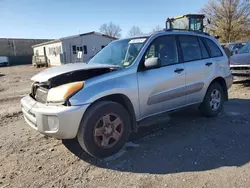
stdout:
<svg viewBox="0 0 250 188">
<path fill-rule="evenodd" d="M 97 53 L 89 64 L 112 64 L 127 67 L 134 62 L 146 39 L 124 39 L 112 42 Z"/>
</svg>

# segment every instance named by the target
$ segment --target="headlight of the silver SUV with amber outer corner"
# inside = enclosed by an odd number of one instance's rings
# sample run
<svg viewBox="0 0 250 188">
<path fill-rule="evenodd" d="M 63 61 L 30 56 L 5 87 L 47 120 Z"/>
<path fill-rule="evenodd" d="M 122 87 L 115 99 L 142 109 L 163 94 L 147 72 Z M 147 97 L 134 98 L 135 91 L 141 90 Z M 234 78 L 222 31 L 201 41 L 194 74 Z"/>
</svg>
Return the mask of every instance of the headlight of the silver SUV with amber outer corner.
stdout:
<svg viewBox="0 0 250 188">
<path fill-rule="evenodd" d="M 47 102 L 61 103 L 82 89 L 84 82 L 72 82 L 51 88 L 48 92 Z"/>
</svg>

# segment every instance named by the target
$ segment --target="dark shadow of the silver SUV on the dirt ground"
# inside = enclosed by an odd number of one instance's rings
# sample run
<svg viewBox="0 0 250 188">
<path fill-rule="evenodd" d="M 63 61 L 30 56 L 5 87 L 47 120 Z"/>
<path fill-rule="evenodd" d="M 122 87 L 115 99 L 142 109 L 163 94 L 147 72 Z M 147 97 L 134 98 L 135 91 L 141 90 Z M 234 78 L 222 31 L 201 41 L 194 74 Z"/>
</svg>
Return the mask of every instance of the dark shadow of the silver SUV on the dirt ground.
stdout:
<svg viewBox="0 0 250 188">
<path fill-rule="evenodd" d="M 103 160 L 82 152 L 74 140 L 63 142 L 80 159 L 122 172 L 169 174 L 240 167 L 250 161 L 249 106 L 250 100 L 230 99 L 215 118 L 201 117 L 197 109 L 173 113 L 169 122 L 140 128 L 127 147 Z"/>
</svg>

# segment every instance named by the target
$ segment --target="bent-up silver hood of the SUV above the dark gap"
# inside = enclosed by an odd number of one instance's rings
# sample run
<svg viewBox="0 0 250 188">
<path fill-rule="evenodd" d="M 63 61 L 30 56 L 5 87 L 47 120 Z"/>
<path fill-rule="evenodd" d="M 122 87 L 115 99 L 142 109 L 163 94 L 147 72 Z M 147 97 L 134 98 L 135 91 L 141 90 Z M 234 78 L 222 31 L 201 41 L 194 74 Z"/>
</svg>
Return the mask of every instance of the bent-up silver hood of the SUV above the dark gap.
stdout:
<svg viewBox="0 0 250 188">
<path fill-rule="evenodd" d="M 90 70 L 90 69 L 117 69 L 119 66 L 110 64 L 85 64 L 85 63 L 71 63 L 58 67 L 46 69 L 31 78 L 35 82 L 46 82 L 49 79 L 59 76 L 65 73 L 70 73 L 79 70 Z"/>
</svg>

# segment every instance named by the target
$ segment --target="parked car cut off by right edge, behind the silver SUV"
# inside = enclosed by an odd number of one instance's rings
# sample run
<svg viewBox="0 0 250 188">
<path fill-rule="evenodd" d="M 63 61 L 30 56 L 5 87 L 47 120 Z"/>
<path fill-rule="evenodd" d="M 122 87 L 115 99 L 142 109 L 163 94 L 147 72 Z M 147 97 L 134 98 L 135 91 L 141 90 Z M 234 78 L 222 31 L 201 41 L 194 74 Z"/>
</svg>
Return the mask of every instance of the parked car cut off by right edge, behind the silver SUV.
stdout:
<svg viewBox="0 0 250 188">
<path fill-rule="evenodd" d="M 250 78 L 250 42 L 230 58 L 230 68 L 234 76 Z"/>
</svg>

